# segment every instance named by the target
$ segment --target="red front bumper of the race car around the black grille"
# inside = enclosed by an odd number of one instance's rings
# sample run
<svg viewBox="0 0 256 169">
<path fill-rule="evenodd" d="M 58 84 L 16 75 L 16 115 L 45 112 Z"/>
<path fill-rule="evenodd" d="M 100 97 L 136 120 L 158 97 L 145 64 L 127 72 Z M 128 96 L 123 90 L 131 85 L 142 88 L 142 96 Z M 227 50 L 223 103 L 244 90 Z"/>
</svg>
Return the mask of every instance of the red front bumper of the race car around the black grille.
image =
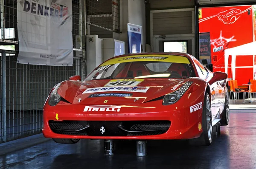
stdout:
<svg viewBox="0 0 256 169">
<path fill-rule="evenodd" d="M 81 138 L 81 139 L 191 139 L 201 135 L 202 130 L 198 130 L 198 124 L 201 123 L 202 110 L 197 110 L 190 113 L 190 105 L 196 104 L 191 101 L 191 104 L 184 105 L 176 104 L 163 106 L 162 101 L 151 101 L 143 104 L 130 104 L 122 106 L 119 112 L 94 111 L 84 112 L 86 105 L 67 105 L 61 102 L 55 107 L 46 105 L 44 107 L 44 127 L 43 134 L 46 138 Z M 56 116 L 58 114 L 58 116 Z M 57 120 L 58 119 L 58 120 Z M 77 121 L 86 127 L 89 124 L 90 131 L 79 132 L 77 135 L 70 132 L 58 132 L 52 130 L 52 123 L 63 123 L 61 121 Z M 113 123 L 111 123 L 113 121 Z M 166 130 L 162 132 L 147 132 L 148 134 L 127 134 L 118 124 L 127 122 L 140 123 L 141 121 L 151 121 L 153 124 L 156 121 L 169 121 L 170 124 Z M 157 123 L 160 124 L 160 123 Z M 101 128 L 105 132 L 102 134 Z M 166 126 L 165 126 L 166 127 Z M 56 128 L 56 126 L 55 126 Z M 114 128 L 114 129 L 113 129 Z M 125 128 L 125 127 L 124 127 Z M 79 128 L 77 128 L 79 130 Z M 81 129 L 81 127 L 80 127 Z M 92 130 L 93 129 L 93 130 Z M 156 129 L 156 128 L 154 128 Z M 159 129 L 159 127 L 157 128 Z M 108 132 L 112 130 L 113 132 Z M 127 127 L 125 130 L 131 130 Z M 118 132 L 117 132 L 118 131 Z M 82 134 L 81 134 L 82 133 Z M 85 133 L 85 134 L 83 134 Z M 90 134 L 89 134 L 90 133 Z M 142 132 L 141 132 L 142 133 Z"/>
</svg>

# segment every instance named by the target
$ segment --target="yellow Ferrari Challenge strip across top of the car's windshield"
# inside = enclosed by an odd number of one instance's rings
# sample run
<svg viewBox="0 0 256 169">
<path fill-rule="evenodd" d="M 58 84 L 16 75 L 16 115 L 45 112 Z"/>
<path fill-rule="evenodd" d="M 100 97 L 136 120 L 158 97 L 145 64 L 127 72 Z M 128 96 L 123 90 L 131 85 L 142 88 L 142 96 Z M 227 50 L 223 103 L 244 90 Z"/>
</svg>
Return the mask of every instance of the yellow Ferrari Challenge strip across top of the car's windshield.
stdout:
<svg viewBox="0 0 256 169">
<path fill-rule="evenodd" d="M 105 63 L 102 63 L 100 66 L 113 65 L 116 63 L 125 63 L 125 62 L 147 62 L 147 61 L 156 61 L 156 62 L 172 62 L 172 63 L 187 63 L 189 64 L 189 59 L 185 56 L 175 56 L 175 55 L 136 55 L 136 56 L 124 56 L 114 59 L 110 59 Z"/>
</svg>

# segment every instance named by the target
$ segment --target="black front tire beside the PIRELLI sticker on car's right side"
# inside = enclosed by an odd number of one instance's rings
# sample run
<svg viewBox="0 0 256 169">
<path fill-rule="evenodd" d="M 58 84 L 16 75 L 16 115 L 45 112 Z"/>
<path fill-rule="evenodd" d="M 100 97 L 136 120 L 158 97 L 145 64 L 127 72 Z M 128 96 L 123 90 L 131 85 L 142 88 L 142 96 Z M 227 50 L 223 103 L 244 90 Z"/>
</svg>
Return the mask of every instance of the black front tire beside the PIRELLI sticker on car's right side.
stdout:
<svg viewBox="0 0 256 169">
<path fill-rule="evenodd" d="M 207 112 L 209 111 L 209 112 Z M 208 113 L 208 115 L 207 115 Z M 210 134 L 208 135 L 207 130 L 207 117 L 208 117 L 208 127 Z M 198 138 L 190 139 L 189 144 L 192 146 L 209 146 L 212 144 L 212 110 L 211 110 L 211 102 L 208 93 L 205 93 L 204 96 L 204 107 L 203 107 L 203 115 L 202 115 L 202 134 Z"/>
</svg>

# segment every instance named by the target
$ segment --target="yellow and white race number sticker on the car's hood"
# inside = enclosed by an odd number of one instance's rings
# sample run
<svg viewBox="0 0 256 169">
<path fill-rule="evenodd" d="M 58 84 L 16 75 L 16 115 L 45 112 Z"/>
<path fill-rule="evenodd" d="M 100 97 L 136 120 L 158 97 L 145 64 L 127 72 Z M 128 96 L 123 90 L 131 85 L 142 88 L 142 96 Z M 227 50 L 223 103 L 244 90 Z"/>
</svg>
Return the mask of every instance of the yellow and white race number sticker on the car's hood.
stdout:
<svg viewBox="0 0 256 169">
<path fill-rule="evenodd" d="M 114 79 L 105 86 L 137 86 L 143 81 L 144 79 Z"/>
</svg>

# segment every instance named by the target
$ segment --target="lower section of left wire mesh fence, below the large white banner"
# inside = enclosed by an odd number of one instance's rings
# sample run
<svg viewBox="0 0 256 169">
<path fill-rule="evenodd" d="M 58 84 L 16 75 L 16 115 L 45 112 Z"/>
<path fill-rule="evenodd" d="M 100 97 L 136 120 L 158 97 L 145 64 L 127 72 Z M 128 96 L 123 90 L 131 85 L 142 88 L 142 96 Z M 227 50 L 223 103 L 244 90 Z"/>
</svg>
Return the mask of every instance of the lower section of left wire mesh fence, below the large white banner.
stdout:
<svg viewBox="0 0 256 169">
<path fill-rule="evenodd" d="M 42 107 L 53 86 L 80 75 L 80 58 L 73 66 L 24 65 L 6 56 L 7 141 L 41 132 Z"/>
</svg>

